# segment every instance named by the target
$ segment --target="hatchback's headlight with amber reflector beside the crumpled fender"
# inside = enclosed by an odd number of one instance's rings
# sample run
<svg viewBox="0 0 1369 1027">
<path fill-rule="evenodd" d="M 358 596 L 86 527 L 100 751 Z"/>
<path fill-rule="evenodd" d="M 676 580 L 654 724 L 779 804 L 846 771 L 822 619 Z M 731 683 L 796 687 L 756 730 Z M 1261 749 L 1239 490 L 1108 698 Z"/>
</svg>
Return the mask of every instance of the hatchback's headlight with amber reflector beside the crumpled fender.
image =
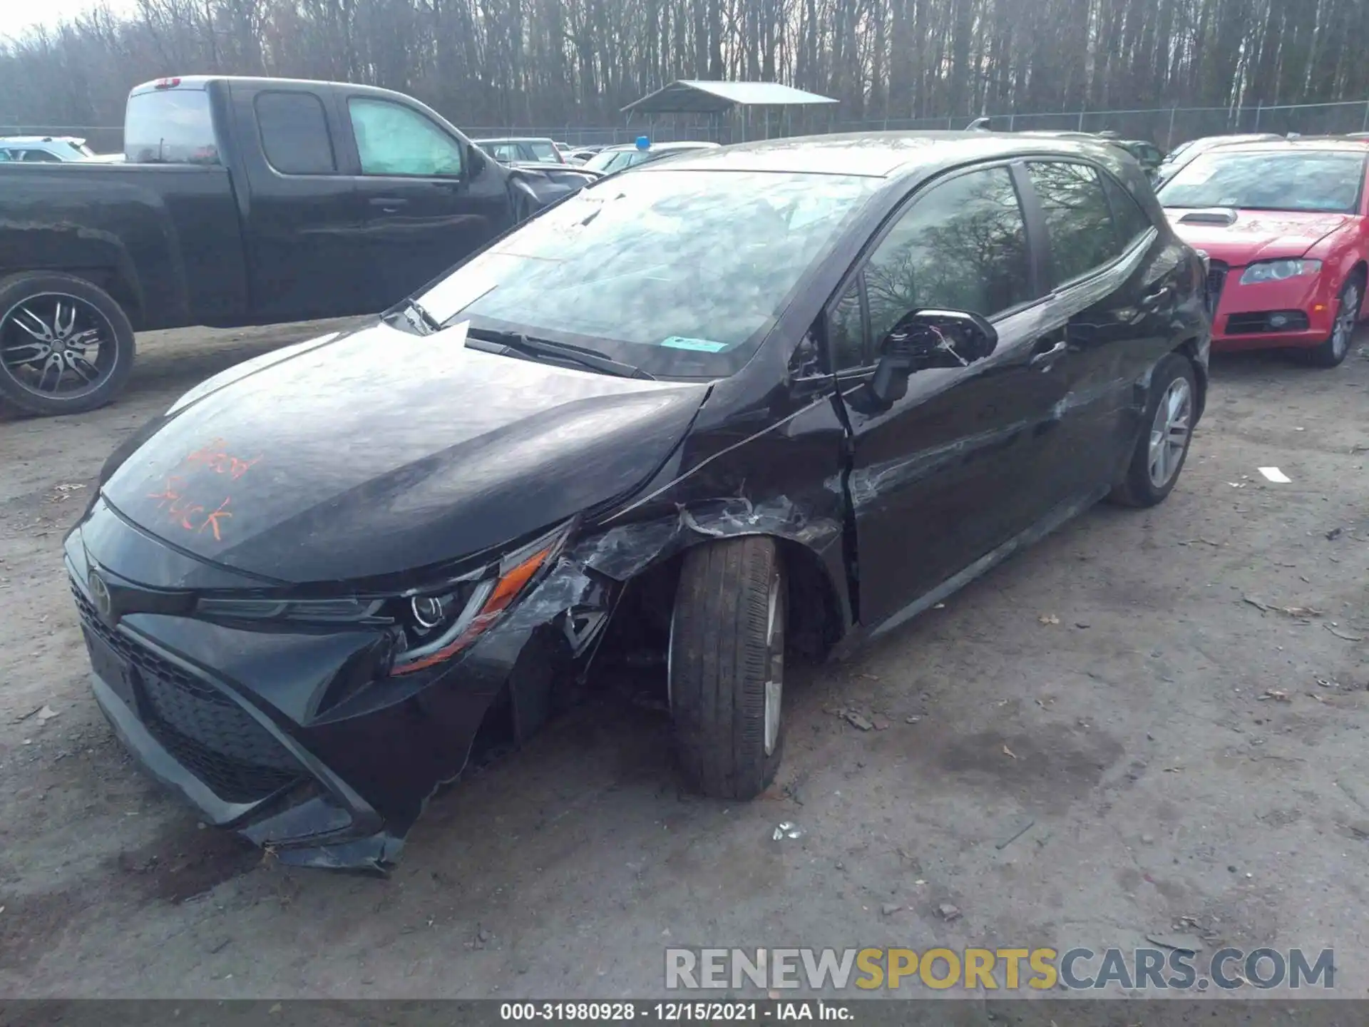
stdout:
<svg viewBox="0 0 1369 1027">
<path fill-rule="evenodd" d="M 537 572 L 556 559 L 570 530 L 568 522 L 498 563 L 438 589 L 408 596 L 396 618 L 404 635 L 390 674 L 422 671 L 471 645 L 500 619 Z"/>
</svg>

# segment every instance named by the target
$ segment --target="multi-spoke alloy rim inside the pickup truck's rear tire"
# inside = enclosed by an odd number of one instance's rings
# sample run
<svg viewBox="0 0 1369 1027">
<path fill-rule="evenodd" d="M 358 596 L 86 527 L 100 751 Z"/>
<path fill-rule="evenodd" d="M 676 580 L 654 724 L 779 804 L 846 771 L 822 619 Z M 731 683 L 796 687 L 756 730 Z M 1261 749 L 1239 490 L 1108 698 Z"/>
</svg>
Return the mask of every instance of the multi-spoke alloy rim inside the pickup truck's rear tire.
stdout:
<svg viewBox="0 0 1369 1027">
<path fill-rule="evenodd" d="M 93 304 L 67 293 L 38 293 L 0 318 L 0 374 L 44 398 L 84 396 L 110 377 L 115 331 Z"/>
</svg>

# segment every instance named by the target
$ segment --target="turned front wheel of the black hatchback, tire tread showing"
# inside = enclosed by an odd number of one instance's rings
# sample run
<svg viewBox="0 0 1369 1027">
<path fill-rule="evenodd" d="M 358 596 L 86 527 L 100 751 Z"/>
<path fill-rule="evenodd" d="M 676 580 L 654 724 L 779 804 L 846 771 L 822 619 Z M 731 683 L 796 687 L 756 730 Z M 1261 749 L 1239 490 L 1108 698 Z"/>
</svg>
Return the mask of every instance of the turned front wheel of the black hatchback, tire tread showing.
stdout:
<svg viewBox="0 0 1369 1027">
<path fill-rule="evenodd" d="M 680 768 L 712 798 L 754 798 L 779 768 L 786 587 L 771 538 L 731 538 L 684 556 L 671 616 L 669 702 Z"/>
</svg>

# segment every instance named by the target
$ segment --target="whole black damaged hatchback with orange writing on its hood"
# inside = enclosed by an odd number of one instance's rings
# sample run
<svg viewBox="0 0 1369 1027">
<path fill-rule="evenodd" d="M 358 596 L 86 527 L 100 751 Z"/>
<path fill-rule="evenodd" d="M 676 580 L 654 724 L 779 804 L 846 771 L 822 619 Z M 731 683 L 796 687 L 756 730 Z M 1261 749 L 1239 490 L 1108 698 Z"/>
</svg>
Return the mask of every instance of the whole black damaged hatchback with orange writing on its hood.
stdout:
<svg viewBox="0 0 1369 1027">
<path fill-rule="evenodd" d="M 66 541 L 93 687 L 207 822 L 383 868 L 482 724 L 616 645 L 750 798 L 839 656 L 1179 477 L 1205 268 L 1113 147 L 784 140 L 615 175 L 123 445 Z"/>
</svg>

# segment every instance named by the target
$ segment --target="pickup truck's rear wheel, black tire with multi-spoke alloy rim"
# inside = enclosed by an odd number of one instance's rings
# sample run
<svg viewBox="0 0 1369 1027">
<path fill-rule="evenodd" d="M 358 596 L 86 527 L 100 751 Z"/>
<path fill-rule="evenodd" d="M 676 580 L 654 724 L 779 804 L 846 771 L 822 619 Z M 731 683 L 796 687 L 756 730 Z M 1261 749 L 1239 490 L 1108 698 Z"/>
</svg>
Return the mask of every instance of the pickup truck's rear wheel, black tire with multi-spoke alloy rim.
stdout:
<svg viewBox="0 0 1369 1027">
<path fill-rule="evenodd" d="M 0 397 L 27 414 L 81 414 L 133 370 L 133 326 L 107 292 L 74 275 L 0 279 Z"/>
</svg>

